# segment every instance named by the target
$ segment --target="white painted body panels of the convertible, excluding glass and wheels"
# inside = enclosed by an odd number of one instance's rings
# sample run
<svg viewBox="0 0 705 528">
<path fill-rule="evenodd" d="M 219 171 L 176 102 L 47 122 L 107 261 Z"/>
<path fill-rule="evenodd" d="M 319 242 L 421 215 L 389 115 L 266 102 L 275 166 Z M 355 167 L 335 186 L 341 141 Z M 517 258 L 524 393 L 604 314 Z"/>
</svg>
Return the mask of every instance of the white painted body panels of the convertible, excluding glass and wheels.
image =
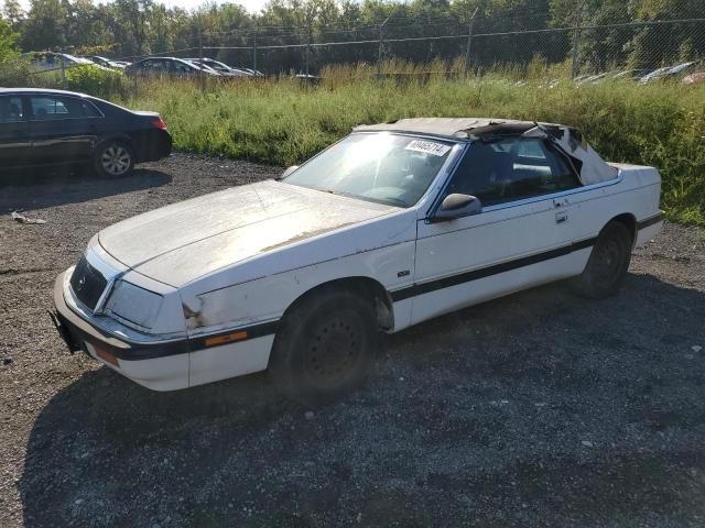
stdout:
<svg viewBox="0 0 705 528">
<path fill-rule="evenodd" d="M 384 330 L 397 332 L 581 274 L 595 238 L 620 215 L 644 222 L 636 244 L 661 229 L 659 174 L 634 165 L 601 167 L 615 175 L 605 182 L 430 221 L 467 145 L 455 144 L 426 194 L 406 209 L 269 180 L 115 224 L 86 252 L 108 279 L 105 298 L 95 310 L 83 305 L 69 270 L 59 277 L 57 309 L 65 302 L 101 334 L 135 349 L 187 342 L 178 353 L 117 364 L 96 353 L 99 342 L 87 348 L 137 383 L 170 391 L 267 369 L 278 321 L 323 284 L 362 277 L 380 285 L 391 307 Z M 123 283 L 132 286 L 121 289 Z M 141 288 L 134 299 L 149 306 L 131 308 L 130 288 Z"/>
</svg>

